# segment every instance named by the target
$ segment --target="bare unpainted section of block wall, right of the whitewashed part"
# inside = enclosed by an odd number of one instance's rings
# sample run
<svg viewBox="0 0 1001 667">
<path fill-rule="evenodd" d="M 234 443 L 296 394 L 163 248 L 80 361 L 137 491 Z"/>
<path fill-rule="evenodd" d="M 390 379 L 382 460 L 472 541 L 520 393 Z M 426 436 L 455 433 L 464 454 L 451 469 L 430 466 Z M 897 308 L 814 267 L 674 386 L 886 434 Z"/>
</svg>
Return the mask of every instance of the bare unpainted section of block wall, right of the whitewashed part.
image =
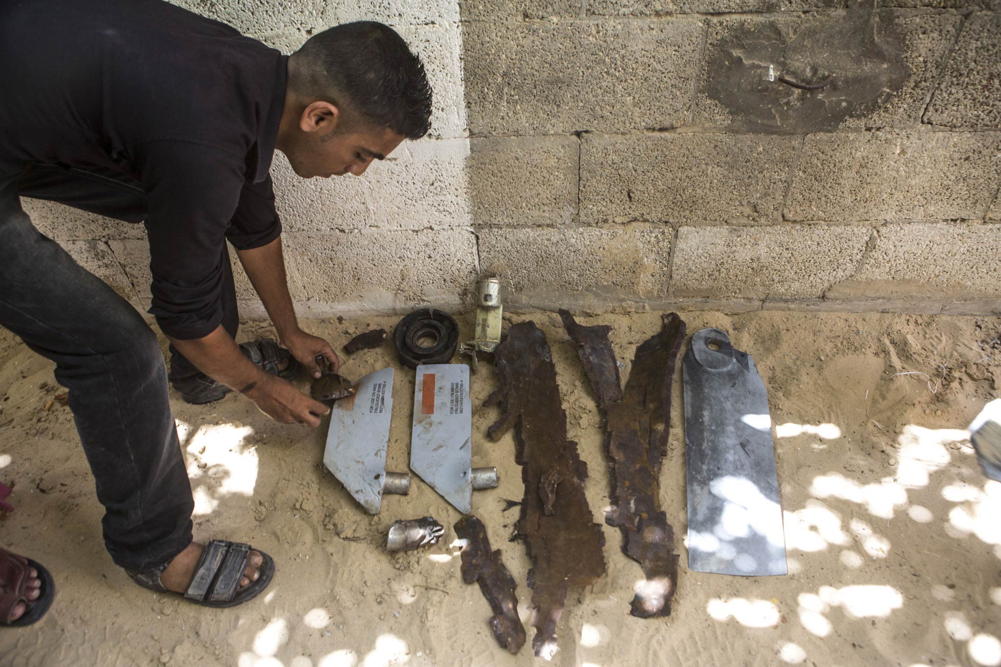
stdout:
<svg viewBox="0 0 1001 667">
<path fill-rule="evenodd" d="M 516 303 L 1001 309 L 995 0 L 460 8 L 473 146 L 524 156 L 469 172 Z"/>
</svg>

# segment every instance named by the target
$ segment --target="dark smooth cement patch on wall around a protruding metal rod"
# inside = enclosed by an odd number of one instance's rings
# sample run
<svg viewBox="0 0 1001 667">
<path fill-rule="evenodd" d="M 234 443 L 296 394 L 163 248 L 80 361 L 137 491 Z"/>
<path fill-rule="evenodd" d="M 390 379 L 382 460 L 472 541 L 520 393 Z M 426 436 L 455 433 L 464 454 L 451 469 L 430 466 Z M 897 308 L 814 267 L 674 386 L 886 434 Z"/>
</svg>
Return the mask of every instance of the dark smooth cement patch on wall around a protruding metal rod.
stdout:
<svg viewBox="0 0 1001 667">
<path fill-rule="evenodd" d="M 854 6 L 832 20 L 734 19 L 706 45 L 707 96 L 733 114 L 730 129 L 824 132 L 868 116 L 910 75 L 904 40 L 885 11 Z M 809 88 L 820 86 L 820 92 Z"/>
</svg>

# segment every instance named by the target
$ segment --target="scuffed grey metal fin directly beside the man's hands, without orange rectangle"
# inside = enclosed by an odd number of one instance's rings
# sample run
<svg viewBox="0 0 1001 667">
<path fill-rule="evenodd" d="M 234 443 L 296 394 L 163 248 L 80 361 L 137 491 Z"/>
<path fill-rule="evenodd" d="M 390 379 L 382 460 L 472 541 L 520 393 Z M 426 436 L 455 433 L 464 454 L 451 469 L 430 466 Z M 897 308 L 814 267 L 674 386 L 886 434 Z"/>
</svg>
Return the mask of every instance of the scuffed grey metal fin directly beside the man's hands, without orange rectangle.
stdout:
<svg viewBox="0 0 1001 667">
<path fill-rule="evenodd" d="M 323 465 L 369 514 L 378 514 L 392 418 L 392 368 L 358 381 L 354 396 L 330 408 Z"/>
</svg>

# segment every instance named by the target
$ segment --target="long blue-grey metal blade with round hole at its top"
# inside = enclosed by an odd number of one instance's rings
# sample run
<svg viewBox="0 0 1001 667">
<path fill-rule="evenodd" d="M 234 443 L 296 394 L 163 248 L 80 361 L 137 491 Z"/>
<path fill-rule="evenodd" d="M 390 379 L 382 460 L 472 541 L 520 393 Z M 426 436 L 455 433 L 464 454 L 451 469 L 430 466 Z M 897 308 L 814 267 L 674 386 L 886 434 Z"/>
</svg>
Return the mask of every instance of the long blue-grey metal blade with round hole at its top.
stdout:
<svg viewBox="0 0 1001 667">
<path fill-rule="evenodd" d="M 703 329 L 683 369 L 689 567 L 786 574 L 768 393 L 754 360 L 723 331 Z"/>
</svg>

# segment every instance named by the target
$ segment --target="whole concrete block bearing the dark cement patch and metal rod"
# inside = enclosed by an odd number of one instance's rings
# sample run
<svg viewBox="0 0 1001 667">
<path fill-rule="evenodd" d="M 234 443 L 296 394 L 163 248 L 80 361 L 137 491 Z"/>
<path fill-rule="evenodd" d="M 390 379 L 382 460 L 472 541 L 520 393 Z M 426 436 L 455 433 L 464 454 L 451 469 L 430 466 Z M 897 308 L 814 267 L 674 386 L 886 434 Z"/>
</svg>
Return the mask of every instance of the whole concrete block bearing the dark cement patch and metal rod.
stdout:
<svg viewBox="0 0 1001 667">
<path fill-rule="evenodd" d="M 916 125 L 960 22 L 955 14 L 858 9 L 714 21 L 694 123 L 776 133 Z M 797 90 L 770 81 L 772 73 L 831 83 Z"/>
</svg>

